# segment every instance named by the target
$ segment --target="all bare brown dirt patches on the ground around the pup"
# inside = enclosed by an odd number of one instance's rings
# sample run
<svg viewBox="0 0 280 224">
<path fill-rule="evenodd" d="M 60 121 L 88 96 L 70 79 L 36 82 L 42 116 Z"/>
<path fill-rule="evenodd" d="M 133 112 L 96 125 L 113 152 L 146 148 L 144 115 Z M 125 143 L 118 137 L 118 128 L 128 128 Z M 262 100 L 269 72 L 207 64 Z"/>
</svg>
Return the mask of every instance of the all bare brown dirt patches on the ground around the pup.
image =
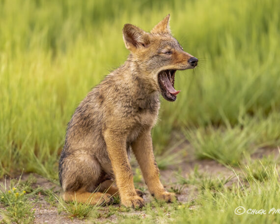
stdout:
<svg viewBox="0 0 280 224">
<path fill-rule="evenodd" d="M 279 156 L 279 150 L 268 150 L 268 149 L 260 149 L 258 150 L 255 154 L 253 154 L 253 158 L 261 158 L 263 155 L 268 155 L 268 154 L 275 154 L 276 157 Z M 181 162 L 177 165 L 169 166 L 166 170 L 161 170 L 161 181 L 166 187 L 166 189 L 170 189 L 171 187 L 174 187 L 177 182 L 176 174 L 178 173 L 178 170 L 180 170 L 180 175 L 188 179 L 188 176 L 191 175 L 192 171 L 197 168 L 199 173 L 207 173 L 207 175 L 212 176 L 212 177 L 222 177 L 222 178 L 228 178 L 232 177 L 226 185 L 232 185 L 233 182 L 237 182 L 237 177 L 233 175 L 232 170 L 226 168 L 224 165 L 214 161 L 214 160 L 196 160 L 192 159 L 190 156 L 188 160 L 185 160 L 184 162 Z M 22 176 L 22 181 L 28 180 L 28 177 L 30 175 L 33 175 L 34 179 L 36 180 L 35 183 L 32 184 L 32 188 L 37 188 L 41 187 L 43 190 L 52 190 L 52 192 L 55 192 L 57 194 L 61 193 L 61 188 L 57 184 L 49 181 L 48 179 L 41 177 L 40 175 L 37 174 L 23 174 Z M 1 182 L 3 183 L 3 179 Z M 10 180 L 6 178 L 6 185 L 9 186 Z M 139 184 L 140 186 L 144 187 L 143 183 Z M 178 196 L 178 201 L 179 202 L 188 202 L 191 201 L 192 197 L 195 197 L 194 193 L 195 192 L 195 187 L 194 186 L 189 186 L 187 185 L 186 187 L 183 188 L 183 190 L 180 192 L 180 194 L 177 194 Z M 192 193 L 191 193 L 192 192 Z M 149 202 L 153 200 L 152 196 L 149 194 L 147 190 L 145 190 L 145 195 L 144 195 L 144 200 L 146 202 Z M 192 195 L 192 196 L 190 196 Z M 114 206 L 119 206 L 119 205 L 114 205 Z M 55 224 L 55 223 L 63 223 L 63 224 L 73 224 L 73 223 L 87 223 L 89 221 L 86 220 L 79 220 L 74 218 L 73 220 L 69 219 L 69 215 L 65 213 L 60 213 L 58 214 L 56 206 L 50 205 L 46 201 L 46 195 L 41 195 L 39 193 L 39 200 L 38 202 L 35 203 L 35 222 L 34 223 L 50 223 L 50 224 Z M 106 210 L 104 210 L 106 212 Z M 141 215 L 145 216 L 144 211 L 135 211 L 131 210 L 130 212 L 125 212 L 125 215 Z M 1 220 L 1 218 L 0 218 Z M 116 215 L 112 215 L 109 218 L 99 218 L 99 222 L 104 221 L 106 222 L 117 222 L 117 217 Z"/>
</svg>

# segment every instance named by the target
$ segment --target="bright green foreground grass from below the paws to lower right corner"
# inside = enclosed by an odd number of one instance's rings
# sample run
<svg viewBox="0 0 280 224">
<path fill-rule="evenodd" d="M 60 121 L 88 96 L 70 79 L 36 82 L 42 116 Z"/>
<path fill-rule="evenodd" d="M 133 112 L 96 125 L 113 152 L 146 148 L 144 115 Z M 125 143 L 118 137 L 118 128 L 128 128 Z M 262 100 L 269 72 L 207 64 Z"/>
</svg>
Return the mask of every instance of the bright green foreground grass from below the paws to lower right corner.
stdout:
<svg viewBox="0 0 280 224">
<path fill-rule="evenodd" d="M 267 166 L 263 165 L 264 160 Z M 262 166 L 263 165 L 263 166 Z M 258 179 L 251 175 L 256 166 L 262 166 L 267 177 Z M 188 179 L 178 176 L 178 183 L 194 185 L 196 196 L 187 203 L 166 204 L 157 201 L 148 203 L 136 214 L 113 213 L 111 209 L 107 214 L 117 216 L 118 223 L 278 223 L 279 215 L 273 213 L 279 208 L 279 164 L 272 158 L 254 160 L 246 168 L 232 169 L 230 178 L 209 177 L 209 175 L 194 170 Z M 233 184 L 226 184 L 232 178 L 237 179 Z M 243 206 L 246 211 L 266 210 L 266 215 L 242 214 L 236 215 L 235 209 Z M 269 211 L 270 214 L 269 214 Z M 98 222 L 98 220 L 94 220 Z"/>
</svg>

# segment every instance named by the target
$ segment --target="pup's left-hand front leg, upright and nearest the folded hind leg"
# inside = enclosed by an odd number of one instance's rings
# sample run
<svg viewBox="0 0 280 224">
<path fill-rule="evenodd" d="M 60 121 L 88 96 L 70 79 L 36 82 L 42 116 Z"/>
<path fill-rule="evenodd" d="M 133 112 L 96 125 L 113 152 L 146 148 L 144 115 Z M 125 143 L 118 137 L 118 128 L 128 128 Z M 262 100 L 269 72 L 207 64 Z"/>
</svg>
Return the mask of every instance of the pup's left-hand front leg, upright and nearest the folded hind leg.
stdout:
<svg viewBox="0 0 280 224">
<path fill-rule="evenodd" d="M 115 132 L 107 130 L 104 133 L 104 139 L 121 203 L 127 207 L 143 207 L 144 200 L 135 191 L 133 174 L 127 158 L 126 135 L 116 135 Z"/>
</svg>

